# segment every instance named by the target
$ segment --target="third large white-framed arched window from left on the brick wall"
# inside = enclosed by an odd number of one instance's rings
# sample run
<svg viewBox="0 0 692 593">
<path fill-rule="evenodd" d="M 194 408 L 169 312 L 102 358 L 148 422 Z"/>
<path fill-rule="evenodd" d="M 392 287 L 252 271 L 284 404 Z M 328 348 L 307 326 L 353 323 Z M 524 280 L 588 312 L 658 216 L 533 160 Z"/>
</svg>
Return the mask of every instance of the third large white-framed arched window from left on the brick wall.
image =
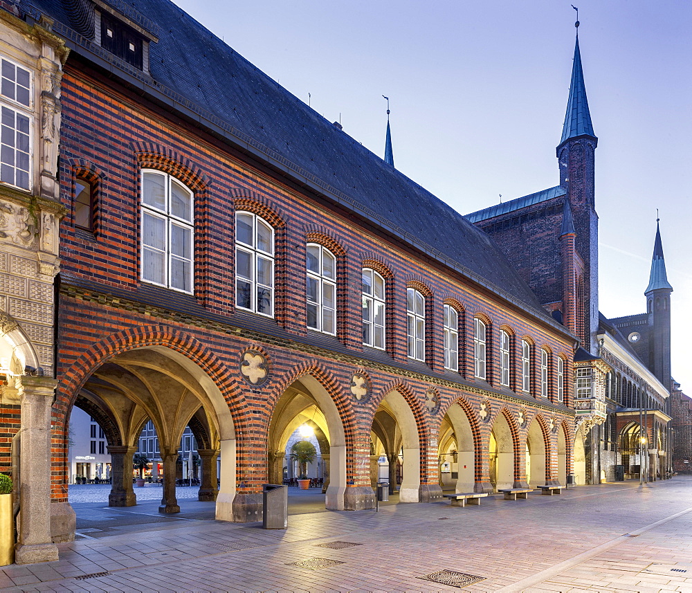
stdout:
<svg viewBox="0 0 692 593">
<path fill-rule="evenodd" d="M 336 336 L 336 257 L 326 247 L 307 245 L 307 327 Z"/>
</svg>

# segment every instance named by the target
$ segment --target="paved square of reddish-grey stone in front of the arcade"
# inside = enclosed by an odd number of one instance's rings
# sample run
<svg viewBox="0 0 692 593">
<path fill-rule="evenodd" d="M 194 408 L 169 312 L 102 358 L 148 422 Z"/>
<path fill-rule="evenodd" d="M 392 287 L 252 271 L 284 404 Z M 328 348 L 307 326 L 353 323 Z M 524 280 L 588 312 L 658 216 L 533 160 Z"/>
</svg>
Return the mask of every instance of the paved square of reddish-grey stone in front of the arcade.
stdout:
<svg viewBox="0 0 692 593">
<path fill-rule="evenodd" d="M 285 531 L 209 520 L 213 505 L 195 511 L 194 504 L 208 503 L 192 501 L 181 503 L 192 511 L 163 523 L 155 502 L 129 509 L 75 505 L 78 514 L 97 507 L 107 513 L 112 534 L 60 544 L 57 562 L 6 567 L 0 587 L 692 593 L 691 495 L 692 477 L 675 477 L 532 493 L 528 500 L 495 496 L 478 507 L 437 502 L 299 514 Z M 122 520 L 132 513 L 138 521 Z M 430 574 L 437 581 L 421 578 Z"/>
</svg>

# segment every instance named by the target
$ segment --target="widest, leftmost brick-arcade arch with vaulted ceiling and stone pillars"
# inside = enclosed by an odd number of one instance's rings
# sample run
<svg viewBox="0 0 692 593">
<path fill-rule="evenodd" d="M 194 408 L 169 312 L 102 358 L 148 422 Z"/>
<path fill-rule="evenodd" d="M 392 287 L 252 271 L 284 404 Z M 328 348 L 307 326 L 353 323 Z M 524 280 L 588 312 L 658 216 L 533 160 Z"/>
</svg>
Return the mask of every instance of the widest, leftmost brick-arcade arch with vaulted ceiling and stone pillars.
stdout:
<svg viewBox="0 0 692 593">
<path fill-rule="evenodd" d="M 178 513 L 176 479 L 179 446 L 186 427 L 197 440 L 199 500 L 215 500 L 215 517 L 233 520 L 235 430 L 219 388 L 197 364 L 162 346 L 116 354 L 96 368 L 73 405 L 98 422 L 111 457 L 109 506 L 136 504 L 133 455 L 143 427 L 151 421 L 161 455 L 160 513 Z M 220 487 L 217 459 L 221 454 Z"/>
</svg>

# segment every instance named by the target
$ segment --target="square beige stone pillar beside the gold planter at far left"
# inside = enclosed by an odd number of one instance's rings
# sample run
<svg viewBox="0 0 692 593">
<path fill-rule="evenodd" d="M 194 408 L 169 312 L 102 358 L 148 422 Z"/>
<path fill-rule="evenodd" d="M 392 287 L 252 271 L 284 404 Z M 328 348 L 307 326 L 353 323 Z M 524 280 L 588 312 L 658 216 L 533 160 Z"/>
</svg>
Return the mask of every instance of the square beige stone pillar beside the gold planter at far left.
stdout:
<svg viewBox="0 0 692 593">
<path fill-rule="evenodd" d="M 51 538 L 51 405 L 57 381 L 21 378 L 19 537 L 15 562 L 57 560 Z"/>
</svg>

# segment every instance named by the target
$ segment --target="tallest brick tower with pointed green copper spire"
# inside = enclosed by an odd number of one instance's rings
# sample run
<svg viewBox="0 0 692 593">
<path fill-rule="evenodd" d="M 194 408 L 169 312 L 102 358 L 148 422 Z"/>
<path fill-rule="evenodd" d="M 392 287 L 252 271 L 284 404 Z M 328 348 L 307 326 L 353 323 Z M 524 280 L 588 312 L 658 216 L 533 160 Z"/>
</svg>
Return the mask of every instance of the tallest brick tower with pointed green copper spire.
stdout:
<svg viewBox="0 0 692 593">
<path fill-rule="evenodd" d="M 579 27 L 579 21 L 576 21 L 575 26 Z M 573 313 L 576 316 L 575 330 L 582 339 L 583 348 L 592 354 L 596 352 L 599 322 L 598 215 L 594 198 L 594 152 L 597 144 L 598 138 L 594 134 L 586 99 L 577 29 L 570 96 L 556 154 L 560 167 L 560 186 L 566 192 L 566 200 L 574 220 L 574 247 L 583 262 L 583 268 L 574 282 L 579 287 L 579 294 L 574 295 L 574 302 L 583 303 L 583 307 L 580 306 Z"/>
</svg>

